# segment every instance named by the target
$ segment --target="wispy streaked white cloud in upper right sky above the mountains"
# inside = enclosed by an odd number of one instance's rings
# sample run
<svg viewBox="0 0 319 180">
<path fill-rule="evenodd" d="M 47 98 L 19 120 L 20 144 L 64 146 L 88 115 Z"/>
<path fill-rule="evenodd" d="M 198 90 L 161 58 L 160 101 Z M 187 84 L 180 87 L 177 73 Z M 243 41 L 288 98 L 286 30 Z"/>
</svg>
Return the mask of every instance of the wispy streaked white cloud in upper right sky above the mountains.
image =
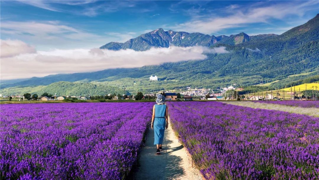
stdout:
<svg viewBox="0 0 319 180">
<path fill-rule="evenodd" d="M 252 5 L 244 10 L 237 6 L 229 6 L 228 9 L 232 14 L 226 17 L 195 17 L 186 23 L 176 24 L 171 28 L 178 31 L 211 34 L 227 28 L 241 27 L 248 23 L 268 23 L 272 18 L 283 19 L 287 15 L 302 16 L 309 9 L 315 7 L 318 9 L 318 4 L 319 1 L 307 1 L 299 4 L 285 2 L 263 7 Z"/>
</svg>

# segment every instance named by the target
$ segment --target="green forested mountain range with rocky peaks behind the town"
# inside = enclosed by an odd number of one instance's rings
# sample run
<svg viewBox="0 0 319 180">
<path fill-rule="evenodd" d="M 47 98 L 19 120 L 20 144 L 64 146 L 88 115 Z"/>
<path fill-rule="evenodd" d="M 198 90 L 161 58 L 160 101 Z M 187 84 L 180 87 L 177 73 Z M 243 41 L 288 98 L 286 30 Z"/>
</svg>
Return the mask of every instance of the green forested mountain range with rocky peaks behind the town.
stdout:
<svg viewBox="0 0 319 180">
<path fill-rule="evenodd" d="M 207 58 L 201 61 L 182 61 L 140 68 L 34 77 L 26 81 L 1 84 L 1 91 L 9 93 L 10 91 L 6 90 L 8 87 L 21 88 L 21 86 L 28 86 L 23 88 L 24 91 L 28 91 L 30 86 L 48 85 L 58 81 L 99 83 L 121 90 L 125 87 L 126 90 L 133 93 L 179 90 L 186 89 L 188 86 L 216 89 L 233 83 L 247 86 L 284 79 L 285 83 L 290 83 L 299 78 L 319 74 L 318 39 L 319 15 L 281 35 L 248 36 L 240 33 L 229 37 L 225 35 L 215 37 L 201 33 L 158 29 L 125 43 L 108 43 L 102 47 L 113 48 L 113 50 L 128 48 L 147 50 L 152 47 L 165 48 L 170 45 L 182 47 L 203 45 L 224 46 L 230 53 L 206 54 Z M 287 78 L 300 73 L 303 75 Z M 157 75 L 159 81 L 150 82 L 151 75 Z M 84 91 L 84 89 L 81 90 Z"/>
</svg>

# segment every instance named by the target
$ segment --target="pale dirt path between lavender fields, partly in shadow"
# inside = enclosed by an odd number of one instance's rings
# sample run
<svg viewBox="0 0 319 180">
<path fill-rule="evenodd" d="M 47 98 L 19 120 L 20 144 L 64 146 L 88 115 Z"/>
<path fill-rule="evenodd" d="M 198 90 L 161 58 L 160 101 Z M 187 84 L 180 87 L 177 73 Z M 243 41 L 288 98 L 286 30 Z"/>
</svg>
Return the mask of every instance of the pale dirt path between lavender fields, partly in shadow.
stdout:
<svg viewBox="0 0 319 180">
<path fill-rule="evenodd" d="M 183 145 L 178 142 L 171 126 L 165 130 L 163 150 L 160 155 L 155 154 L 156 146 L 153 143 L 154 131 L 149 129 L 146 135 L 145 147 L 140 153 L 137 170 L 132 179 L 202 179 L 199 170 L 192 167 L 191 157 L 187 155 Z"/>
</svg>

